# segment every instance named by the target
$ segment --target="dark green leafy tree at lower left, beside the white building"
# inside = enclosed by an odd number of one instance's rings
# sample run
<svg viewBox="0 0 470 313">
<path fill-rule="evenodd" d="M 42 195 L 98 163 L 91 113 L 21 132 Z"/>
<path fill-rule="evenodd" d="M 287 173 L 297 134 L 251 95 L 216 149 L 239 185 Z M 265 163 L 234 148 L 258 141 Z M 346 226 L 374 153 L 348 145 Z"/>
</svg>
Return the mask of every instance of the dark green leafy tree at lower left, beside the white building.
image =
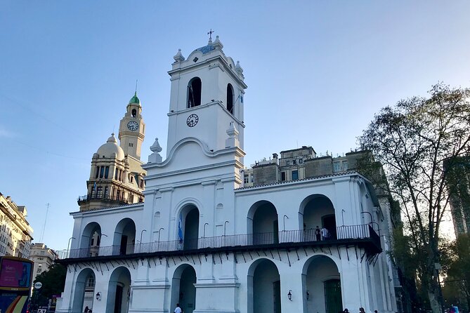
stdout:
<svg viewBox="0 0 470 313">
<path fill-rule="evenodd" d="M 47 271 L 39 274 L 34 279 L 34 284 L 40 281 L 42 287 L 34 288 L 32 295 L 34 303 L 38 306 L 45 306 L 53 295 L 60 295 L 64 291 L 66 274 L 67 269 L 58 263 L 54 263 Z"/>
</svg>

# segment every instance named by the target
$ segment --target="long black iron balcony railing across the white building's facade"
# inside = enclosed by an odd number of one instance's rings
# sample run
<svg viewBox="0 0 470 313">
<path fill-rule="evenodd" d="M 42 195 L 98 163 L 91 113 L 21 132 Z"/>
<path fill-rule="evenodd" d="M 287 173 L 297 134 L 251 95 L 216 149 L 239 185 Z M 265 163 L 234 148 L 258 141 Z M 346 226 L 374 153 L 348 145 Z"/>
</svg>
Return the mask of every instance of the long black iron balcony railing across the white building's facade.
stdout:
<svg viewBox="0 0 470 313">
<path fill-rule="evenodd" d="M 136 253 L 171 253 L 174 251 L 197 252 L 211 249 L 227 250 L 230 248 L 275 248 L 289 246 L 332 245 L 332 244 L 372 244 L 372 250 L 379 252 L 380 237 L 370 225 L 340 226 L 329 232 L 329 238 L 320 240 L 315 236 L 315 229 L 287 230 L 278 233 L 235 234 L 197 239 L 155 241 L 127 246 L 91 246 L 72 249 L 68 258 L 93 258 L 97 256 L 132 255 Z"/>
</svg>

